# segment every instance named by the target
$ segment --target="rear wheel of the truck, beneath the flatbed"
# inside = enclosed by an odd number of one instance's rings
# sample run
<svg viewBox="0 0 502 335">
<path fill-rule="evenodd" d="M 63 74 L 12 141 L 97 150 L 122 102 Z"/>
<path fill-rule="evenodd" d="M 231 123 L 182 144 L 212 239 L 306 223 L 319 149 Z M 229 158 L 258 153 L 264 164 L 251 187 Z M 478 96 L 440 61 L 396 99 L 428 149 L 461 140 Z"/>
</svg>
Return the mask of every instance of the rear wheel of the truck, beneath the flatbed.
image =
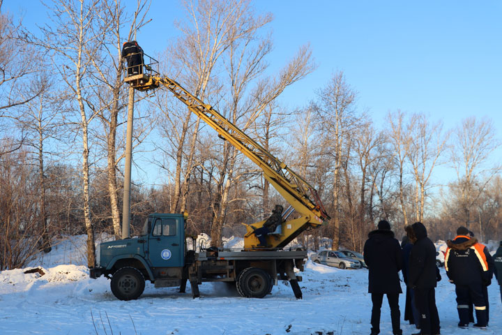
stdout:
<svg viewBox="0 0 502 335">
<path fill-rule="evenodd" d="M 241 272 L 236 286 L 242 297 L 263 298 L 271 289 L 271 276 L 263 269 L 248 267 Z"/>
</svg>

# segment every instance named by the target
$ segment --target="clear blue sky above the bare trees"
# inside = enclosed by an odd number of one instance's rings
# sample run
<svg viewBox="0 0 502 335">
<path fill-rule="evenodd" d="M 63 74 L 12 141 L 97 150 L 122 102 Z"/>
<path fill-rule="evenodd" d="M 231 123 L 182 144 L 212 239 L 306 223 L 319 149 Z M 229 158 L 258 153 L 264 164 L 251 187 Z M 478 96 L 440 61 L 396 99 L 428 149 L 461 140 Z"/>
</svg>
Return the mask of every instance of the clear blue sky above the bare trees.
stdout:
<svg viewBox="0 0 502 335">
<path fill-rule="evenodd" d="M 130 1 L 132 6 L 136 1 Z M 271 12 L 278 70 L 310 43 L 317 70 L 284 92 L 291 108 L 306 105 L 332 73 L 343 70 L 358 91 L 358 106 L 377 126 L 388 111 L 423 112 L 452 128 L 469 116 L 489 117 L 501 139 L 502 1 L 253 1 Z M 3 3 L 34 27 L 46 20 L 36 0 Z M 137 40 L 162 52 L 183 18 L 178 1 L 153 0 L 152 22 Z M 501 151 L 499 151 L 499 156 Z"/>
</svg>

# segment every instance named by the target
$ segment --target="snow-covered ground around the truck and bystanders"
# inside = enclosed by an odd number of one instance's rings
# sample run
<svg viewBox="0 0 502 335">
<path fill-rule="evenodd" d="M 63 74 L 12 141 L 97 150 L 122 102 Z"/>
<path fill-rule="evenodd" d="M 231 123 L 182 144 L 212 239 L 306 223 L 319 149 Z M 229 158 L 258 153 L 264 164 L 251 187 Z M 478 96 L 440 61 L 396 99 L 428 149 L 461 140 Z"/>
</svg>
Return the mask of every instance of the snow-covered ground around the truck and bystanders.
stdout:
<svg viewBox="0 0 502 335">
<path fill-rule="evenodd" d="M 229 244 L 238 246 L 238 239 Z M 74 238 L 31 262 L 43 276 L 24 274 L 29 268 L 0 272 L 0 334 L 370 334 L 366 269 L 340 270 L 309 260 L 301 300 L 280 282 L 264 299 L 240 297 L 223 283 L 200 285 L 197 299 L 190 285 L 178 293 L 147 283 L 139 299 L 119 301 L 106 278 L 89 278 L 83 247 L 84 238 Z M 489 328 L 459 329 L 454 286 L 444 269 L 441 276 L 436 289 L 441 334 L 502 334 L 499 285 L 489 286 Z M 400 306 L 404 313 L 404 295 Z M 382 309 L 381 334 L 392 334 L 386 300 Z M 402 329 L 416 332 L 404 321 Z"/>
</svg>

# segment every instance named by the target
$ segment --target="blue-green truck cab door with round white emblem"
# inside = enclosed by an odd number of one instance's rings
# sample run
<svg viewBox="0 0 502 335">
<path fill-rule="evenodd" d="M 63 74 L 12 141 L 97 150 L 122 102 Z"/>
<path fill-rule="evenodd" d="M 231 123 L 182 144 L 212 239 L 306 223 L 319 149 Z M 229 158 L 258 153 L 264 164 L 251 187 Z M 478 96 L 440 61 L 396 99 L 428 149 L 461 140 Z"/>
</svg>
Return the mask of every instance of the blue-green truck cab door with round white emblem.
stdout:
<svg viewBox="0 0 502 335">
<path fill-rule="evenodd" d="M 152 267 L 183 266 L 181 218 L 155 218 L 149 235 L 149 260 Z"/>
</svg>

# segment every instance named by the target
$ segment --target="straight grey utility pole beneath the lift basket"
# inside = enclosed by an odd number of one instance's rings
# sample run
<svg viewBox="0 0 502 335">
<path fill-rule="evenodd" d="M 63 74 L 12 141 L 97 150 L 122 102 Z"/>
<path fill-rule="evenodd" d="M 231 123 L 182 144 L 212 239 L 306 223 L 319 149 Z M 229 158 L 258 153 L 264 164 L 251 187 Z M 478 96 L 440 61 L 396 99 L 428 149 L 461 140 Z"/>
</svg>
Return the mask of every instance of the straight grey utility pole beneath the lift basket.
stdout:
<svg viewBox="0 0 502 335">
<path fill-rule="evenodd" d="M 134 119 L 134 91 L 129 87 L 128 128 L 126 134 L 126 166 L 124 167 L 124 193 L 122 209 L 122 239 L 128 239 L 130 235 L 130 170 L 132 161 L 132 120 Z"/>
</svg>

